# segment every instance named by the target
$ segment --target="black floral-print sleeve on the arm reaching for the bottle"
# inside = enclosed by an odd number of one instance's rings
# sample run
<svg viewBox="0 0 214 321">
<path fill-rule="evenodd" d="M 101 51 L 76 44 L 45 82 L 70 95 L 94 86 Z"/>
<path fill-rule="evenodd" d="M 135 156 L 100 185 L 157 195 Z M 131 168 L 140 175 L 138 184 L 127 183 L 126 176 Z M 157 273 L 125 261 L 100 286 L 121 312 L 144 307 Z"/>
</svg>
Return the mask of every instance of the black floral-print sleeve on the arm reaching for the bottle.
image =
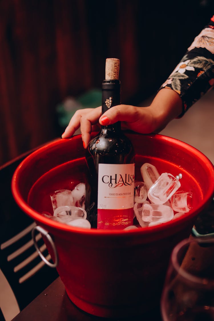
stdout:
<svg viewBox="0 0 214 321">
<path fill-rule="evenodd" d="M 179 117 L 214 85 L 214 16 L 194 39 L 175 70 L 161 85 L 176 91 L 183 101 Z M 159 90 L 160 90 L 159 89 Z"/>
</svg>

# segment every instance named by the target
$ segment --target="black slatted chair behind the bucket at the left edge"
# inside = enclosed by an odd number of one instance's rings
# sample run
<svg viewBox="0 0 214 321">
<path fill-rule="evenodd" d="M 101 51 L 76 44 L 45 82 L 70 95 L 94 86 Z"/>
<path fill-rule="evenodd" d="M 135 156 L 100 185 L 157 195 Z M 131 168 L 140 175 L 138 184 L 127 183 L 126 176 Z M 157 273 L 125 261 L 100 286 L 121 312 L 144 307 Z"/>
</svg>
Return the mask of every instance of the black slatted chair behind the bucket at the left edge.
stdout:
<svg viewBox="0 0 214 321">
<path fill-rule="evenodd" d="M 21 211 L 11 193 L 13 173 L 28 154 L 30 152 L 0 167 L 0 291 L 4 291 L 1 297 L 5 302 L 10 299 L 14 305 L 17 301 L 16 314 L 58 277 L 56 269 L 45 265 L 38 255 L 31 237 L 31 230 L 36 224 Z M 49 260 L 40 233 L 36 239 L 40 251 Z M 7 297 L 8 291 L 10 298 Z M 4 314 L 4 302 L 0 302 L 0 321 L 4 320 L 1 310 Z"/>
</svg>

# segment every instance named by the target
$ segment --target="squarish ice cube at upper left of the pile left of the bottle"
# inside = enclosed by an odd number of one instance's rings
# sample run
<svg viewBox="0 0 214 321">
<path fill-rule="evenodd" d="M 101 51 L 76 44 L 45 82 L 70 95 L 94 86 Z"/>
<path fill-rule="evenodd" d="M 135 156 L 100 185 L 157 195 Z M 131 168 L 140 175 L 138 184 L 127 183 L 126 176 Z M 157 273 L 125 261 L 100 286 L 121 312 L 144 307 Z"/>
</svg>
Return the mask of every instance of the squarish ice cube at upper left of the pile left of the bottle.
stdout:
<svg viewBox="0 0 214 321">
<path fill-rule="evenodd" d="M 73 205 L 72 192 L 68 189 L 59 189 L 50 195 L 53 210 L 59 206 Z"/>
</svg>

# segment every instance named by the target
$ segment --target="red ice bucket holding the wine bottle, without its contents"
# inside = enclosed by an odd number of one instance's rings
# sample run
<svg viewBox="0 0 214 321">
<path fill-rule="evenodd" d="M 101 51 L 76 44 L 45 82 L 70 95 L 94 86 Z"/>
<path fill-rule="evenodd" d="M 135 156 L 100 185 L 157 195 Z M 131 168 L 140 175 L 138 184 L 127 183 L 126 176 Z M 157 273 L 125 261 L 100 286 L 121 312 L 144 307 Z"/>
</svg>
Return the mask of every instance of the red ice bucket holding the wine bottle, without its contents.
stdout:
<svg viewBox="0 0 214 321">
<path fill-rule="evenodd" d="M 140 167 L 145 162 L 159 173 L 182 173 L 182 190 L 193 191 L 193 210 L 162 225 L 136 230 L 84 230 L 42 216 L 41 212 L 52 211 L 50 194 L 85 181 L 80 135 L 33 152 L 12 180 L 18 205 L 48 232 L 44 239 L 53 261 L 58 255 L 56 269 L 69 298 L 101 317 L 141 315 L 159 304 L 173 247 L 190 235 L 197 214 L 214 195 L 214 167 L 201 152 L 162 135 L 127 136 L 136 153 L 135 179 L 141 180 Z"/>
</svg>

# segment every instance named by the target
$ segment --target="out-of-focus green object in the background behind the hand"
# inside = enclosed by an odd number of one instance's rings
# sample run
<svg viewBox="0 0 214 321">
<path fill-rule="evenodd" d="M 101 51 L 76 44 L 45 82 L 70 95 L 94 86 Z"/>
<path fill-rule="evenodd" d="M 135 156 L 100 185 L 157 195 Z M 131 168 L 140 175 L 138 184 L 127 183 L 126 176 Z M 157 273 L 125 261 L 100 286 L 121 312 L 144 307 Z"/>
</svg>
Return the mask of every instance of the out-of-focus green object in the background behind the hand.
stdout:
<svg viewBox="0 0 214 321">
<path fill-rule="evenodd" d="M 96 108 L 101 104 L 102 91 L 99 89 L 91 89 L 79 97 L 67 97 L 56 106 L 58 123 L 61 127 L 66 127 L 78 109 Z"/>
</svg>

